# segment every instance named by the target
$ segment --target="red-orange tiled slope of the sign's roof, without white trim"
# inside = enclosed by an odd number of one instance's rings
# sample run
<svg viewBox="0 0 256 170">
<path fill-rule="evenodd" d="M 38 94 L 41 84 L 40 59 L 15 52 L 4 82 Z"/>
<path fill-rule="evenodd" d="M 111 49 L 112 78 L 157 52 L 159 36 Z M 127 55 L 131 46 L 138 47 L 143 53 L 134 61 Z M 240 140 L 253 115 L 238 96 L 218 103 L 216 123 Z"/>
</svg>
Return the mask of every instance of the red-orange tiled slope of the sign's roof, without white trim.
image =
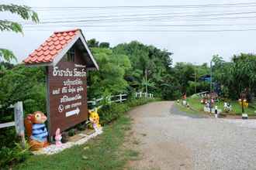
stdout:
<svg viewBox="0 0 256 170">
<path fill-rule="evenodd" d="M 33 51 L 26 59 L 24 63 L 50 63 L 54 60 L 54 57 L 61 52 L 61 49 L 71 41 L 80 32 L 80 29 L 73 29 L 63 32 L 54 32 L 43 44 Z"/>
</svg>

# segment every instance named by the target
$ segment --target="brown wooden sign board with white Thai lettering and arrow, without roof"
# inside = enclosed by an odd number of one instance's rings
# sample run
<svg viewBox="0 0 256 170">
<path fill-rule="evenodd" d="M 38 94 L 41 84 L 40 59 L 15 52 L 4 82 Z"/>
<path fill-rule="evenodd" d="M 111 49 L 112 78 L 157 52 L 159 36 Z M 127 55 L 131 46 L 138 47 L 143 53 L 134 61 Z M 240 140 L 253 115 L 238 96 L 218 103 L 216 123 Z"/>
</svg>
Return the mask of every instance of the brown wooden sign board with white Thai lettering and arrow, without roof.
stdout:
<svg viewBox="0 0 256 170">
<path fill-rule="evenodd" d="M 86 66 L 78 56 L 74 62 L 62 59 L 56 66 L 48 66 L 48 131 L 54 136 L 88 118 Z"/>
</svg>

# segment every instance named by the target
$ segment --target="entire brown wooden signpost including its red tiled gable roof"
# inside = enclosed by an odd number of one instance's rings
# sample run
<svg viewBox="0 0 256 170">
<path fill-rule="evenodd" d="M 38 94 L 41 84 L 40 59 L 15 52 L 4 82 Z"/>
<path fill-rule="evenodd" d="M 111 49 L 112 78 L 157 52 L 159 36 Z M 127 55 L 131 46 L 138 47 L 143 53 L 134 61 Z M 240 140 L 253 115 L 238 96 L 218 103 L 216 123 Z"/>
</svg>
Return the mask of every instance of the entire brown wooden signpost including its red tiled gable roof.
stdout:
<svg viewBox="0 0 256 170">
<path fill-rule="evenodd" d="M 81 29 L 54 32 L 24 61 L 47 68 L 47 124 L 50 141 L 88 118 L 86 72 L 99 70 Z M 35 110 L 36 111 L 36 110 Z"/>
</svg>

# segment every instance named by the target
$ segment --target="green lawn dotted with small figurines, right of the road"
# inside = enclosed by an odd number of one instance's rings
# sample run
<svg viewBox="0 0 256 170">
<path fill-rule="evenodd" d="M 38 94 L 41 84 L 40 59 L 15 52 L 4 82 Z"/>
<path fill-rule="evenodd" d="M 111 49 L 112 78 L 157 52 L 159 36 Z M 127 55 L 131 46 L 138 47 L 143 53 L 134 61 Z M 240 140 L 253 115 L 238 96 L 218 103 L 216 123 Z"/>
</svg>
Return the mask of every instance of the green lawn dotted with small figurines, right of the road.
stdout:
<svg viewBox="0 0 256 170">
<path fill-rule="evenodd" d="M 199 111 L 203 111 L 203 104 L 200 104 L 200 99 L 198 97 L 188 97 L 187 101 L 189 103 L 189 105 L 192 107 L 192 109 L 194 110 L 199 110 Z M 240 104 L 238 103 L 238 101 L 231 101 L 230 104 L 232 105 L 232 111 L 228 114 L 230 115 L 241 115 L 242 114 L 242 109 L 240 107 Z M 224 106 L 224 102 L 220 101 L 218 103 L 216 103 L 216 105 L 218 106 L 219 109 L 223 110 L 223 106 Z M 249 104 L 250 105 L 250 104 Z M 247 107 L 245 108 L 245 113 L 247 113 L 248 115 L 256 115 L 254 113 L 256 109 L 252 108 L 252 107 Z"/>
</svg>

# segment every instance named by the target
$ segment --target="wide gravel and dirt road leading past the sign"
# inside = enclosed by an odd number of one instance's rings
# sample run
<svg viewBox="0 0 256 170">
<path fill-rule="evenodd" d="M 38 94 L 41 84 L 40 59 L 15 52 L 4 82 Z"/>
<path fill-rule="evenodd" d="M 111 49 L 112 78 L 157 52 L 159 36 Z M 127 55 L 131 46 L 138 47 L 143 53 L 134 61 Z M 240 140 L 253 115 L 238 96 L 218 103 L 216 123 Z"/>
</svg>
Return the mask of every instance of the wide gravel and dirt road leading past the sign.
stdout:
<svg viewBox="0 0 256 170">
<path fill-rule="evenodd" d="M 141 153 L 132 169 L 256 169 L 256 121 L 189 117 L 173 104 L 130 111 Z"/>
</svg>

